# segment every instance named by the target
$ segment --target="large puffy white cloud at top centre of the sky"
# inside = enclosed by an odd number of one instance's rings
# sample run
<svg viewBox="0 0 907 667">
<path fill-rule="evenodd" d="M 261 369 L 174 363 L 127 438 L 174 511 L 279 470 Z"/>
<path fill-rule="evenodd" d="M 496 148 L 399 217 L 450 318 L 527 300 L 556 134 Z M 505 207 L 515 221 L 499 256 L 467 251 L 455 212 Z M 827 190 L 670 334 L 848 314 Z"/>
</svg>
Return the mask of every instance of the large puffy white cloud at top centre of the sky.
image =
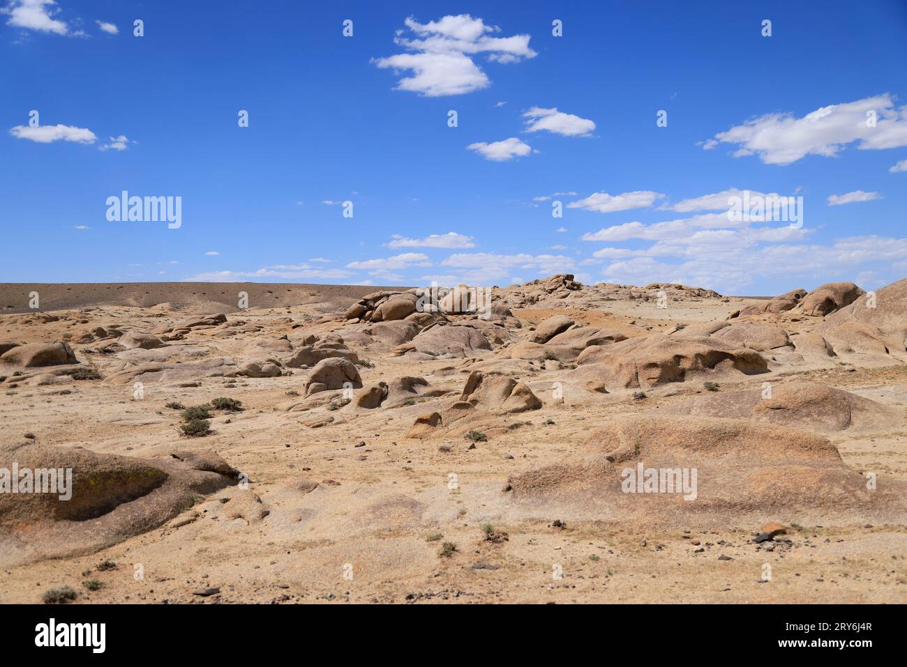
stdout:
<svg viewBox="0 0 907 667">
<path fill-rule="evenodd" d="M 493 37 L 501 29 L 485 25 L 470 14 L 447 15 L 438 21 L 418 23 L 412 16 L 405 25 L 413 37 L 398 31 L 394 42 L 413 53 L 398 53 L 372 62 L 382 69 L 412 70 L 413 75 L 397 82 L 397 90 L 419 92 L 427 97 L 460 95 L 488 86 L 488 76 L 471 56 L 488 53 L 489 60 L 517 63 L 533 58 L 530 35 Z"/>
</svg>

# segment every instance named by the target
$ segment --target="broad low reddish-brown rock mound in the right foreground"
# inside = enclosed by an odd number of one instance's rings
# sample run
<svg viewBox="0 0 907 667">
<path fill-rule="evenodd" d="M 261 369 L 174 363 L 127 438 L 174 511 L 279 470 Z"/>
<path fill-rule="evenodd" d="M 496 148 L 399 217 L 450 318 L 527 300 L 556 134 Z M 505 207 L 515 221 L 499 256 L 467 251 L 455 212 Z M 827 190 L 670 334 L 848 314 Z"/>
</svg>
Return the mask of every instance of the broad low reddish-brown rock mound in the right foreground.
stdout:
<svg viewBox="0 0 907 667">
<path fill-rule="evenodd" d="M 766 515 L 892 520 L 904 486 L 867 489 L 831 442 L 802 430 L 647 412 L 610 420 L 566 459 L 512 475 L 505 488 L 532 516 L 688 528 Z"/>
</svg>

